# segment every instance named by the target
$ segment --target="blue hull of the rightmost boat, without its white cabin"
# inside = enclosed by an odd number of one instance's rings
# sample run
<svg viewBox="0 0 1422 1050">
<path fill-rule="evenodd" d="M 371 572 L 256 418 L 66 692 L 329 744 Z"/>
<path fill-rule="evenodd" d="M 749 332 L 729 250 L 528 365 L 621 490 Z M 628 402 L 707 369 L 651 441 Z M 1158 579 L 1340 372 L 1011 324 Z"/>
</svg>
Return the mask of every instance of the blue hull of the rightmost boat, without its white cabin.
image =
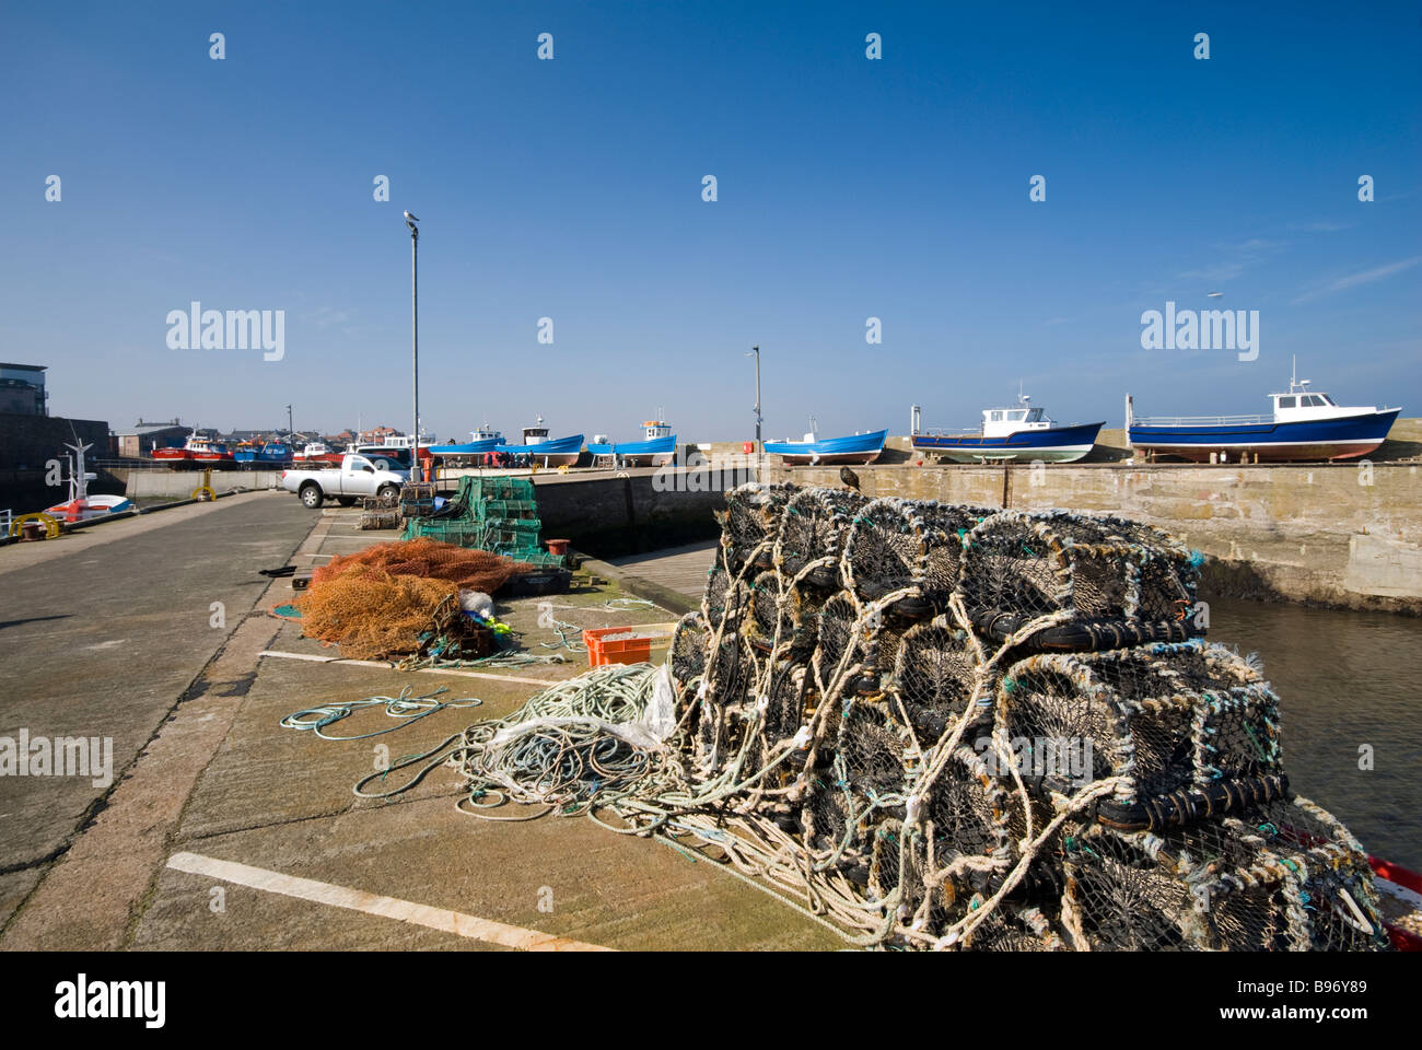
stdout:
<svg viewBox="0 0 1422 1050">
<path fill-rule="evenodd" d="M 1244 457 L 1250 460 L 1257 457 L 1258 462 L 1357 460 L 1384 442 L 1401 411 L 1391 408 L 1382 413 L 1298 423 L 1132 424 L 1128 440 L 1138 451 L 1177 455 L 1192 462 L 1209 462 L 1212 455 L 1220 452 L 1227 461 Z"/>
</svg>

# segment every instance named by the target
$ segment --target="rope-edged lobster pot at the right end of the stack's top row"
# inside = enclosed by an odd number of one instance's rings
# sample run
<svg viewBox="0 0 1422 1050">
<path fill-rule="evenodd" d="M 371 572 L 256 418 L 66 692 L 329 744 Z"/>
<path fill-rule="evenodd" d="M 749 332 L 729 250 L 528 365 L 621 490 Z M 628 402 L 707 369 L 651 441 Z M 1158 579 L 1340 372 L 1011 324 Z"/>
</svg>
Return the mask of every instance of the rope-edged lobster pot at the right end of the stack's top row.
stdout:
<svg viewBox="0 0 1422 1050">
<path fill-rule="evenodd" d="M 1175 625 L 1180 637 L 1189 629 L 1197 569 L 1189 551 L 1145 525 L 1128 529 L 1115 518 L 1065 511 L 1001 511 L 964 535 L 961 556 L 963 605 L 974 629 L 997 642 L 1052 615 L 1068 620 L 1051 625 L 1062 636 L 1059 647 L 1109 643 L 1109 635 L 1074 642 L 1074 626 L 1135 627 L 1121 635 L 1125 643 L 1139 640 L 1139 625 L 1162 625 L 1150 637 L 1172 637 L 1165 625 Z"/>
</svg>

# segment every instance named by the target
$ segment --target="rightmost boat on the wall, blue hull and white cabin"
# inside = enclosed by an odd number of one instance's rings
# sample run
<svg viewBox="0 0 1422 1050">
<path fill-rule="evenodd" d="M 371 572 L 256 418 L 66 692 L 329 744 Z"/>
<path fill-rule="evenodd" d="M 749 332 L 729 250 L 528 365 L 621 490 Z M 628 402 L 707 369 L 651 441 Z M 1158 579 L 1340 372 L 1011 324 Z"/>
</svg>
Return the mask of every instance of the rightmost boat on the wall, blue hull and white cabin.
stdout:
<svg viewBox="0 0 1422 1050">
<path fill-rule="evenodd" d="M 1294 373 L 1297 376 L 1297 371 Z M 1193 462 L 1297 462 L 1355 460 L 1384 442 L 1401 408 L 1340 405 L 1290 377 L 1288 393 L 1270 394 L 1271 415 L 1136 417 L 1126 394 L 1126 440 L 1148 457 Z"/>
</svg>

